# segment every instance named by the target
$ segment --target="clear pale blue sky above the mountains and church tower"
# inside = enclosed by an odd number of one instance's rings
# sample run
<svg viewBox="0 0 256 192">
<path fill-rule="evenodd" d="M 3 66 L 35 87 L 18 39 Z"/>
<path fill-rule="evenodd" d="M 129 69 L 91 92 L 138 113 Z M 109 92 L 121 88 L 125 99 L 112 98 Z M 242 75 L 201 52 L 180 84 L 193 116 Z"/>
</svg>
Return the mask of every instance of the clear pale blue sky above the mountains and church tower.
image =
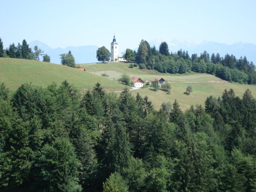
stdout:
<svg viewBox="0 0 256 192">
<path fill-rule="evenodd" d="M 106 46 L 144 39 L 256 44 L 256 0 L 0 0 L 0 38 L 51 48 Z"/>
</svg>

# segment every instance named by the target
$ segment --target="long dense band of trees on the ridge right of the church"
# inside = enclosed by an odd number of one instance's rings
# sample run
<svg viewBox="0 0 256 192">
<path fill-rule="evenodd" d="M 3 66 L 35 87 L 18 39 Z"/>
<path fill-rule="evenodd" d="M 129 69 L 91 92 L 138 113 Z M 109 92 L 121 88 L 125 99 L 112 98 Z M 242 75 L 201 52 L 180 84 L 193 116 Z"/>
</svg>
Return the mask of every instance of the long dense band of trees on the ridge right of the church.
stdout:
<svg viewBox="0 0 256 192">
<path fill-rule="evenodd" d="M 162 73 L 183 74 L 186 72 L 199 72 L 213 74 L 221 79 L 241 84 L 256 84 L 255 65 L 247 61 L 247 58 L 236 59 L 234 55 L 226 54 L 221 57 L 219 53 L 208 54 L 206 51 L 198 56 L 189 56 L 185 50 L 169 53 L 166 42 L 160 44 L 159 50 L 150 47 L 147 41 L 142 40 L 137 52 L 126 50 L 124 55 L 127 61 L 135 61 L 139 68 L 154 69 Z"/>
</svg>

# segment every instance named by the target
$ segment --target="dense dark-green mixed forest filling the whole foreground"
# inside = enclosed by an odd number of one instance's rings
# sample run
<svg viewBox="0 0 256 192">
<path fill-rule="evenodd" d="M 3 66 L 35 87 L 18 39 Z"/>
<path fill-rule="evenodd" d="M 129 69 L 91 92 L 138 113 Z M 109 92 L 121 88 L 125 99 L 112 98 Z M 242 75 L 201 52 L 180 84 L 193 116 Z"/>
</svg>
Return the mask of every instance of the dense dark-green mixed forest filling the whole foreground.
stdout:
<svg viewBox="0 0 256 192">
<path fill-rule="evenodd" d="M 0 191 L 256 191 L 256 102 L 234 91 L 183 112 L 100 83 L 2 83 Z"/>
</svg>

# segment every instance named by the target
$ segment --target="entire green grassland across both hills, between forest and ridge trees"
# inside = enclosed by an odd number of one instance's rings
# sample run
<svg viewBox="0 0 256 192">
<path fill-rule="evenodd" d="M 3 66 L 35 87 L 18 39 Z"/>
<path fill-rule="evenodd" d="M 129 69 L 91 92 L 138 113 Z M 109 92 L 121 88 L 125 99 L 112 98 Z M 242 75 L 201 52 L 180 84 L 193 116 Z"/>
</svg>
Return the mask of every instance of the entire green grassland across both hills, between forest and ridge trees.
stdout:
<svg viewBox="0 0 256 192">
<path fill-rule="evenodd" d="M 161 103 L 178 100 L 182 110 L 189 108 L 192 104 L 202 104 L 207 96 L 213 95 L 219 97 L 224 89 L 234 89 L 237 96 L 242 97 L 246 89 L 250 89 L 254 98 L 256 98 L 256 86 L 233 84 L 223 81 L 210 74 L 182 74 L 171 75 L 162 74 L 155 70 L 140 70 L 138 67 L 129 68 L 129 63 L 110 62 L 83 64 L 80 67 L 85 68 L 86 72 L 71 68 L 68 66 L 57 65 L 46 62 L 39 62 L 26 59 L 0 58 L 0 83 L 4 82 L 13 92 L 22 83 L 32 82 L 32 85 L 41 85 L 46 87 L 52 81 L 61 83 L 65 79 L 69 83 L 78 87 L 82 92 L 92 89 L 96 82 L 100 82 L 106 91 L 123 90 L 124 85 L 117 82 L 121 74 L 126 73 L 131 76 L 140 77 L 143 81 L 152 81 L 154 78 L 161 77 L 171 82 L 171 94 L 166 94 L 162 90 L 156 92 L 152 87 L 133 90 L 135 96 L 137 92 L 143 97 L 148 96 L 156 109 L 159 109 Z M 105 73 L 109 75 L 108 79 L 101 77 Z M 113 81 L 115 79 L 115 81 Z M 184 94 L 187 86 L 191 85 L 193 92 L 190 95 Z M 119 94 L 119 93 L 117 93 Z"/>
</svg>

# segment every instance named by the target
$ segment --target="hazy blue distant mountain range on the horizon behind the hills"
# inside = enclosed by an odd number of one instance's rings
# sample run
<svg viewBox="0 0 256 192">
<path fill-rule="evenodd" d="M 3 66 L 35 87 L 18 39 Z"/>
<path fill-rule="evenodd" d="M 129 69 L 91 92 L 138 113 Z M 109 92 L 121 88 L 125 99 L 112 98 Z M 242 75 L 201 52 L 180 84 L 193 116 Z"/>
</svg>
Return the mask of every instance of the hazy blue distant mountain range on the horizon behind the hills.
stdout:
<svg viewBox="0 0 256 192">
<path fill-rule="evenodd" d="M 165 40 L 163 39 L 154 39 L 152 41 L 149 41 L 150 46 L 156 46 L 156 49 L 159 48 L 159 45 L 161 42 Z M 178 39 L 173 39 L 172 41 L 166 41 L 170 52 L 172 51 L 177 52 L 178 50 L 182 49 L 185 51 L 188 51 L 189 55 L 196 53 L 198 56 L 200 53 L 204 52 L 206 50 L 210 56 L 212 53 L 215 55 L 219 53 L 221 57 L 224 57 L 226 54 L 233 54 L 236 56 L 237 59 L 239 59 L 241 56 L 247 57 L 248 61 L 252 61 L 254 64 L 256 64 L 256 45 L 251 43 L 242 43 L 237 42 L 232 45 L 222 44 L 218 42 L 212 42 L 212 41 L 204 41 L 200 44 L 197 44 L 193 41 L 180 41 Z M 74 56 L 76 63 L 95 63 L 98 62 L 96 59 L 96 50 L 98 49 L 98 46 L 93 45 L 86 45 L 86 46 L 79 46 L 79 47 L 73 47 L 68 46 L 65 49 L 63 48 L 51 48 L 50 46 L 46 45 L 43 42 L 40 41 L 32 41 L 29 43 L 29 46 L 34 48 L 34 46 L 37 45 L 41 50 L 44 51 L 45 54 L 49 55 L 51 58 L 51 63 L 60 63 L 59 55 L 63 53 L 68 53 L 69 50 L 71 51 L 72 55 Z M 137 51 L 137 48 L 134 50 Z M 42 61 L 42 58 L 40 59 Z"/>
</svg>

